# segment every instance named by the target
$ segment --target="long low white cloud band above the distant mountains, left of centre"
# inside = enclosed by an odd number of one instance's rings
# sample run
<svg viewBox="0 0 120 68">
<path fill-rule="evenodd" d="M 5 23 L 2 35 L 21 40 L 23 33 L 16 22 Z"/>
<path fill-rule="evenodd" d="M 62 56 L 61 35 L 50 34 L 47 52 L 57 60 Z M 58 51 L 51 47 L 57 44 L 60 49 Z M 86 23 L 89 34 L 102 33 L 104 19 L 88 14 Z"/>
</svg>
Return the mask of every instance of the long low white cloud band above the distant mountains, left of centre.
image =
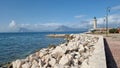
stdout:
<svg viewBox="0 0 120 68">
<path fill-rule="evenodd" d="M 62 24 L 57 22 L 50 22 L 50 23 L 35 23 L 35 24 L 27 24 L 21 23 L 17 24 L 17 28 L 27 28 L 34 31 L 43 31 L 43 30 L 54 30 L 61 26 Z"/>
</svg>

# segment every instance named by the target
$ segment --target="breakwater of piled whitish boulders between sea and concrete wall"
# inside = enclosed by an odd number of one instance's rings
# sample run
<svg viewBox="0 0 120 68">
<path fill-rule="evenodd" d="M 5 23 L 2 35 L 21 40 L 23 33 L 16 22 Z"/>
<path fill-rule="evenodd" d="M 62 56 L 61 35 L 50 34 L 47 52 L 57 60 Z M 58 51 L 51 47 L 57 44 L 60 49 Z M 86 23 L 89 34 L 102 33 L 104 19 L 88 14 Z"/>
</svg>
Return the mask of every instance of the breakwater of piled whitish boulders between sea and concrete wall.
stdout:
<svg viewBox="0 0 120 68">
<path fill-rule="evenodd" d="M 11 63 L 11 68 L 89 68 L 90 57 L 99 37 L 70 34 L 69 40 L 56 47 L 43 48 L 25 59 Z"/>
</svg>

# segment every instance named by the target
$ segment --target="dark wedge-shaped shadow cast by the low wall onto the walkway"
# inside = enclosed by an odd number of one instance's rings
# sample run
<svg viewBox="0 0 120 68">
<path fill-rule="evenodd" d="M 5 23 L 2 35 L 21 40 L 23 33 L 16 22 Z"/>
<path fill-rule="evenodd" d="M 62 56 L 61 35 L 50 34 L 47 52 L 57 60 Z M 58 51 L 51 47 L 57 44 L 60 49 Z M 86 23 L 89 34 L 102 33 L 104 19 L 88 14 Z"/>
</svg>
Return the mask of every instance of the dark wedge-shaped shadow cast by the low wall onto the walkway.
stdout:
<svg viewBox="0 0 120 68">
<path fill-rule="evenodd" d="M 107 68 L 118 68 L 106 39 L 104 39 Z"/>
</svg>

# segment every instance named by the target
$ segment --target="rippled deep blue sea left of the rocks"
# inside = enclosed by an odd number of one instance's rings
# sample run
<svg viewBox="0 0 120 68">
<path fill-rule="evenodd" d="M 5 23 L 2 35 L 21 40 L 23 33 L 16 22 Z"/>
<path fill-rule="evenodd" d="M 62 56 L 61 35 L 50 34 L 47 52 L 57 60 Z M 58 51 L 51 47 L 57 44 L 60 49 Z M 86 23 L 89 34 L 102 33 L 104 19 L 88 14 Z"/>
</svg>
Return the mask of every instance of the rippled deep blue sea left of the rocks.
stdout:
<svg viewBox="0 0 120 68">
<path fill-rule="evenodd" d="M 65 42 L 64 38 L 50 38 L 48 34 L 76 34 L 78 32 L 14 32 L 0 33 L 0 65 L 24 59 L 26 56 L 47 48 L 50 44 Z"/>
</svg>

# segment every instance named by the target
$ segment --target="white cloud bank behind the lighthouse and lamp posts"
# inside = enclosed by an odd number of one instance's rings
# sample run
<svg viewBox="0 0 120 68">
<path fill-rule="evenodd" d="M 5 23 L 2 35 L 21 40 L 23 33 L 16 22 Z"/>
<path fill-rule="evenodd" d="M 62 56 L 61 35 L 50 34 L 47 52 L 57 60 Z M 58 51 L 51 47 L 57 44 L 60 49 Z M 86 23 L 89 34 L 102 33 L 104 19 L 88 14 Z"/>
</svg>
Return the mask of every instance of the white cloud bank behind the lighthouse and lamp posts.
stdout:
<svg viewBox="0 0 120 68">
<path fill-rule="evenodd" d="M 90 21 L 90 25 L 92 27 L 94 20 L 93 19 L 89 19 L 89 21 Z M 105 17 L 97 18 L 97 26 L 98 27 L 105 27 L 105 25 L 106 25 Z M 116 13 L 116 14 L 109 15 L 109 17 L 108 17 L 108 25 L 111 28 L 120 27 L 120 14 Z"/>
</svg>

